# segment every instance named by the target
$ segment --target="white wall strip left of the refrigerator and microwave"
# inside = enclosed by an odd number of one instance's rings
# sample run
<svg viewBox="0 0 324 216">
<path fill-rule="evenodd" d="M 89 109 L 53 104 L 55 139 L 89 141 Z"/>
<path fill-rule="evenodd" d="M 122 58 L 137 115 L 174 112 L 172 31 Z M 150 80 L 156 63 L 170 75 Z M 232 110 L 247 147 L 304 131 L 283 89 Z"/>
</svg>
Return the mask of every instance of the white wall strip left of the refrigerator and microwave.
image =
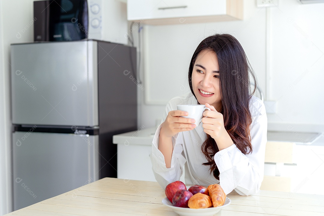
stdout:
<svg viewBox="0 0 324 216">
<path fill-rule="evenodd" d="M 11 119 L 10 119 L 10 44 L 32 42 L 33 39 L 33 0 L 0 1 L 0 215 L 12 209 L 12 171 L 11 171 Z M 28 26 L 29 25 L 29 26 Z M 3 63 L 3 65 L 1 65 Z"/>
</svg>

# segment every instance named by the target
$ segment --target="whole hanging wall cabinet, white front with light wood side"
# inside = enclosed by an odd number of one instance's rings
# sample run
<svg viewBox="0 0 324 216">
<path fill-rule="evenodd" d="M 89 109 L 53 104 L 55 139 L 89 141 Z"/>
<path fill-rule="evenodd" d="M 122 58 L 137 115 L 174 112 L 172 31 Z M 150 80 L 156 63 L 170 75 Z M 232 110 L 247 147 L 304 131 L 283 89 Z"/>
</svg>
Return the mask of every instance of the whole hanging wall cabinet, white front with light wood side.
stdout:
<svg viewBox="0 0 324 216">
<path fill-rule="evenodd" d="M 243 19 L 242 0 L 128 0 L 127 19 L 150 25 Z"/>
</svg>

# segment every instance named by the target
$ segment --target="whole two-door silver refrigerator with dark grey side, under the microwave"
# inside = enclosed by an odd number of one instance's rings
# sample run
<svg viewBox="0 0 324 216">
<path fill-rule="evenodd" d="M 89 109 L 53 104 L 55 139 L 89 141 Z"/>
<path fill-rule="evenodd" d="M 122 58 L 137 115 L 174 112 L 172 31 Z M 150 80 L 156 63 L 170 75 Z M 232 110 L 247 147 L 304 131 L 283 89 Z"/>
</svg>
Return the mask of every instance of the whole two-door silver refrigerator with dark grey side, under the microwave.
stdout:
<svg viewBox="0 0 324 216">
<path fill-rule="evenodd" d="M 11 45 L 14 210 L 117 177 L 112 136 L 137 129 L 135 79 L 133 47 Z"/>
</svg>

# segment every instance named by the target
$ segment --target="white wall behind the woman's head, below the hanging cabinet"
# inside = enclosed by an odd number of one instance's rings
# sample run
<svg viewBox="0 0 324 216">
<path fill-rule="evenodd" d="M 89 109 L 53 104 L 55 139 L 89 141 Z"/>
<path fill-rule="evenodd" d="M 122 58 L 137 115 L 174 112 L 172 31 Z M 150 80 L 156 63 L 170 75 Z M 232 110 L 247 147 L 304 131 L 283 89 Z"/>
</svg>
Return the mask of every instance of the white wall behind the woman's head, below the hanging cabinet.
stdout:
<svg viewBox="0 0 324 216">
<path fill-rule="evenodd" d="M 146 83 L 145 90 L 139 91 L 139 125 L 154 126 L 172 97 L 190 91 L 187 74 L 191 56 L 201 40 L 215 33 L 229 33 L 239 40 L 257 75 L 259 85 L 265 89 L 265 26 L 265 9 L 257 8 L 255 1 L 244 1 L 244 20 L 145 25 L 143 40 Z"/>
</svg>

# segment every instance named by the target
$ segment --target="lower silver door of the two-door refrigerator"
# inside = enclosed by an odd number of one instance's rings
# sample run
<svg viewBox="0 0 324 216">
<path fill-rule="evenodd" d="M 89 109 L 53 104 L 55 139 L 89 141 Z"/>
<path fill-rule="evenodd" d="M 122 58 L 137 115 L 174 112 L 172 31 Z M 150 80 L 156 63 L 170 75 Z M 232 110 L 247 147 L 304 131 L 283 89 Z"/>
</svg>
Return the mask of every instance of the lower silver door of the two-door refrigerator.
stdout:
<svg viewBox="0 0 324 216">
<path fill-rule="evenodd" d="M 98 135 L 14 132 L 14 210 L 98 180 L 98 142 Z"/>
</svg>

